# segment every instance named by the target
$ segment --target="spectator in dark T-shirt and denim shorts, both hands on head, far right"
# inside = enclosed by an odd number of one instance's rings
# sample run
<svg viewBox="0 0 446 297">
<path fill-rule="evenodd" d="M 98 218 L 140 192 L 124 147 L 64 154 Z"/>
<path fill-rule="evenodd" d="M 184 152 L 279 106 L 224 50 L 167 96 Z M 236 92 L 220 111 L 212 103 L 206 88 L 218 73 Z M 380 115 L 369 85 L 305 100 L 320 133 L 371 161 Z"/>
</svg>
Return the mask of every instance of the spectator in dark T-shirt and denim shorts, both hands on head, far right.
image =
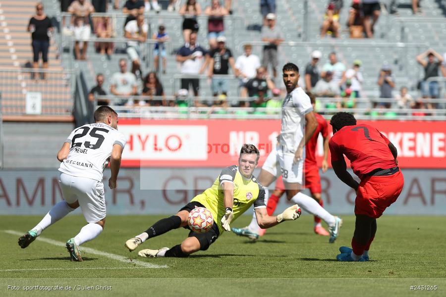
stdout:
<svg viewBox="0 0 446 297">
<path fill-rule="evenodd" d="M 426 61 L 427 57 L 427 61 Z M 437 58 L 437 60 L 436 60 Z M 428 49 L 417 55 L 417 62 L 424 68 L 424 78 L 421 83 L 421 93 L 423 98 L 439 98 L 439 84 L 437 81 L 428 82 L 431 77 L 439 76 L 439 69 L 443 62 L 443 57 L 434 49 Z"/>
</svg>

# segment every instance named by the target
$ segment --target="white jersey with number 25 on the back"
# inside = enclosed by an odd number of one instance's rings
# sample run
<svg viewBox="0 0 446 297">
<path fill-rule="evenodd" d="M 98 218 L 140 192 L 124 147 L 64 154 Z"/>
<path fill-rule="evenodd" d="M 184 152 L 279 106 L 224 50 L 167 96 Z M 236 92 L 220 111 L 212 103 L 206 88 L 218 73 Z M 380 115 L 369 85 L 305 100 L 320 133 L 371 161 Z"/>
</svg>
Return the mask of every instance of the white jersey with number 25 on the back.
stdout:
<svg viewBox="0 0 446 297">
<path fill-rule="evenodd" d="M 113 145 L 124 148 L 127 139 L 109 125 L 94 123 L 74 129 L 65 142 L 71 145 L 70 152 L 60 163 L 59 171 L 102 182 Z"/>
</svg>

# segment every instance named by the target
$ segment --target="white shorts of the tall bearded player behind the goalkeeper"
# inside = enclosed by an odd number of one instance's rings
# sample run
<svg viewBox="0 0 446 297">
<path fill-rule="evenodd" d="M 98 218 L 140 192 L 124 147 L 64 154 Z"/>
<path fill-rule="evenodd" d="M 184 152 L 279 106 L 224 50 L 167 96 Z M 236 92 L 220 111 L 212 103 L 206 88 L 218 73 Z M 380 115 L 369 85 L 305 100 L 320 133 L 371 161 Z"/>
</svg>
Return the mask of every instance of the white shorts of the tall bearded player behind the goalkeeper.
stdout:
<svg viewBox="0 0 446 297">
<path fill-rule="evenodd" d="M 305 159 L 305 150 L 303 159 Z M 262 169 L 265 169 L 276 178 L 280 175 L 284 182 L 287 183 L 299 183 L 302 185 L 302 174 L 303 174 L 303 160 L 298 161 L 293 164 L 294 153 L 283 152 L 281 146 L 274 149 L 268 155 Z"/>
</svg>

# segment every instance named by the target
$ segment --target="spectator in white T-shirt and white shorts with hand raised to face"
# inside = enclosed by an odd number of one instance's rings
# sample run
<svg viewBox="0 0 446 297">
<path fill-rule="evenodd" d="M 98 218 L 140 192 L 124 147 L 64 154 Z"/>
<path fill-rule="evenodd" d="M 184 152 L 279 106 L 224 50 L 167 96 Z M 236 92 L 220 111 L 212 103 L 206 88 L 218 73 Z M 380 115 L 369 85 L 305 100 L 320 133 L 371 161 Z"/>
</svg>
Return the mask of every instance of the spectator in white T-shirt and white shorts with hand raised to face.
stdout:
<svg viewBox="0 0 446 297">
<path fill-rule="evenodd" d="M 138 14 L 136 20 L 129 21 L 125 25 L 124 37 L 127 41 L 127 54 L 132 61 L 132 73 L 142 79 L 141 72 L 141 44 L 147 40 L 149 25 L 144 15 Z"/>
</svg>

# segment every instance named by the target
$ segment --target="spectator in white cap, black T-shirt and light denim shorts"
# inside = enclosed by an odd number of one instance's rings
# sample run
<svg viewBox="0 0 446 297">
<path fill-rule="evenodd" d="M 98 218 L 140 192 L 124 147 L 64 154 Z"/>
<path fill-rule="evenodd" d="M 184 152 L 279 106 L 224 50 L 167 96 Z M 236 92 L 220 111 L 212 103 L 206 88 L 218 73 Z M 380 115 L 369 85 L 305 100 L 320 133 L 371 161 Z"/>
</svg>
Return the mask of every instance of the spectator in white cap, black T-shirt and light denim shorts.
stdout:
<svg viewBox="0 0 446 297">
<path fill-rule="evenodd" d="M 229 81 L 226 78 L 215 78 L 213 75 L 228 75 L 229 66 L 231 66 L 232 71 L 235 73 L 234 57 L 232 56 L 231 50 L 226 48 L 225 42 L 226 38 L 219 36 L 217 38 L 218 48 L 211 50 L 209 54 L 209 77 L 212 77 L 211 88 L 214 97 L 217 97 L 219 94 L 227 96 Z"/>
</svg>

